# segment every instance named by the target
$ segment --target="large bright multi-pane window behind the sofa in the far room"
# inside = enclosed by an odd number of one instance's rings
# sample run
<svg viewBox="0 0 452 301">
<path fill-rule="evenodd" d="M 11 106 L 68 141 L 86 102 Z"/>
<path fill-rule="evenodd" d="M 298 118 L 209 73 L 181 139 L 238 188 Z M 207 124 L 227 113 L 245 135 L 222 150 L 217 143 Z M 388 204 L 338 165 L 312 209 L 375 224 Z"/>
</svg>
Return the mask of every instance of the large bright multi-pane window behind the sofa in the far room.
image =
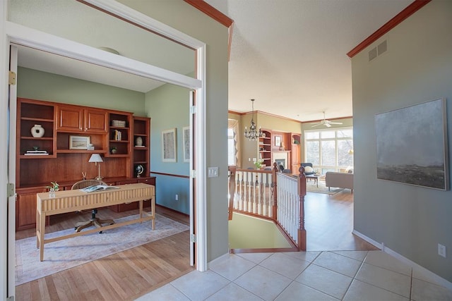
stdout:
<svg viewBox="0 0 452 301">
<path fill-rule="evenodd" d="M 304 160 L 327 171 L 345 171 L 353 166 L 353 128 L 305 130 Z"/>
</svg>

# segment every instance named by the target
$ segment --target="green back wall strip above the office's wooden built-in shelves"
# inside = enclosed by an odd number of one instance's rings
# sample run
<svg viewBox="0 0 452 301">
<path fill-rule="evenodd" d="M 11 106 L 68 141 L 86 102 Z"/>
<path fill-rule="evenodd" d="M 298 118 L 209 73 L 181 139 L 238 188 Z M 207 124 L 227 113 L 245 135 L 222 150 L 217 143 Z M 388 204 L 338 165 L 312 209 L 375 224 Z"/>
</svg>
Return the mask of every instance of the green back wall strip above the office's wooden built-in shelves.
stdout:
<svg viewBox="0 0 452 301">
<path fill-rule="evenodd" d="M 22 98 L 93 106 L 145 116 L 145 94 L 141 92 L 28 68 L 18 68 L 17 93 Z"/>
</svg>

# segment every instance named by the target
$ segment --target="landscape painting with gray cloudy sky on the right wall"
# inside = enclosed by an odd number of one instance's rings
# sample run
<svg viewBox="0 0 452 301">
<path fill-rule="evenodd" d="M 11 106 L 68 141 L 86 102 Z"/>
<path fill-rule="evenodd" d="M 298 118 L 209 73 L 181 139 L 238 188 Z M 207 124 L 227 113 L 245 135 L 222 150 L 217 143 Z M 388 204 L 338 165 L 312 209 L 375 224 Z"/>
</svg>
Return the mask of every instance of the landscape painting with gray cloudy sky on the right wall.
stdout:
<svg viewBox="0 0 452 301">
<path fill-rule="evenodd" d="M 375 115 L 376 178 L 449 189 L 446 99 Z"/>
</svg>

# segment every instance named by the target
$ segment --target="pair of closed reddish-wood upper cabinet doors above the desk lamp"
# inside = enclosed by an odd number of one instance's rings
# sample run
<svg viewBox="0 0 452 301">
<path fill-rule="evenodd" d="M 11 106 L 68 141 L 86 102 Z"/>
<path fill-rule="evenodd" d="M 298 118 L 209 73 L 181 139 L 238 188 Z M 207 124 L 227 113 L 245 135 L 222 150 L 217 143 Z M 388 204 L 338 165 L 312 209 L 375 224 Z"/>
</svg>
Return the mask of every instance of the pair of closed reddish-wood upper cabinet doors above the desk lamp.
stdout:
<svg viewBox="0 0 452 301">
<path fill-rule="evenodd" d="M 108 113 L 81 106 L 57 106 L 57 130 L 68 133 L 107 133 Z"/>
</svg>

